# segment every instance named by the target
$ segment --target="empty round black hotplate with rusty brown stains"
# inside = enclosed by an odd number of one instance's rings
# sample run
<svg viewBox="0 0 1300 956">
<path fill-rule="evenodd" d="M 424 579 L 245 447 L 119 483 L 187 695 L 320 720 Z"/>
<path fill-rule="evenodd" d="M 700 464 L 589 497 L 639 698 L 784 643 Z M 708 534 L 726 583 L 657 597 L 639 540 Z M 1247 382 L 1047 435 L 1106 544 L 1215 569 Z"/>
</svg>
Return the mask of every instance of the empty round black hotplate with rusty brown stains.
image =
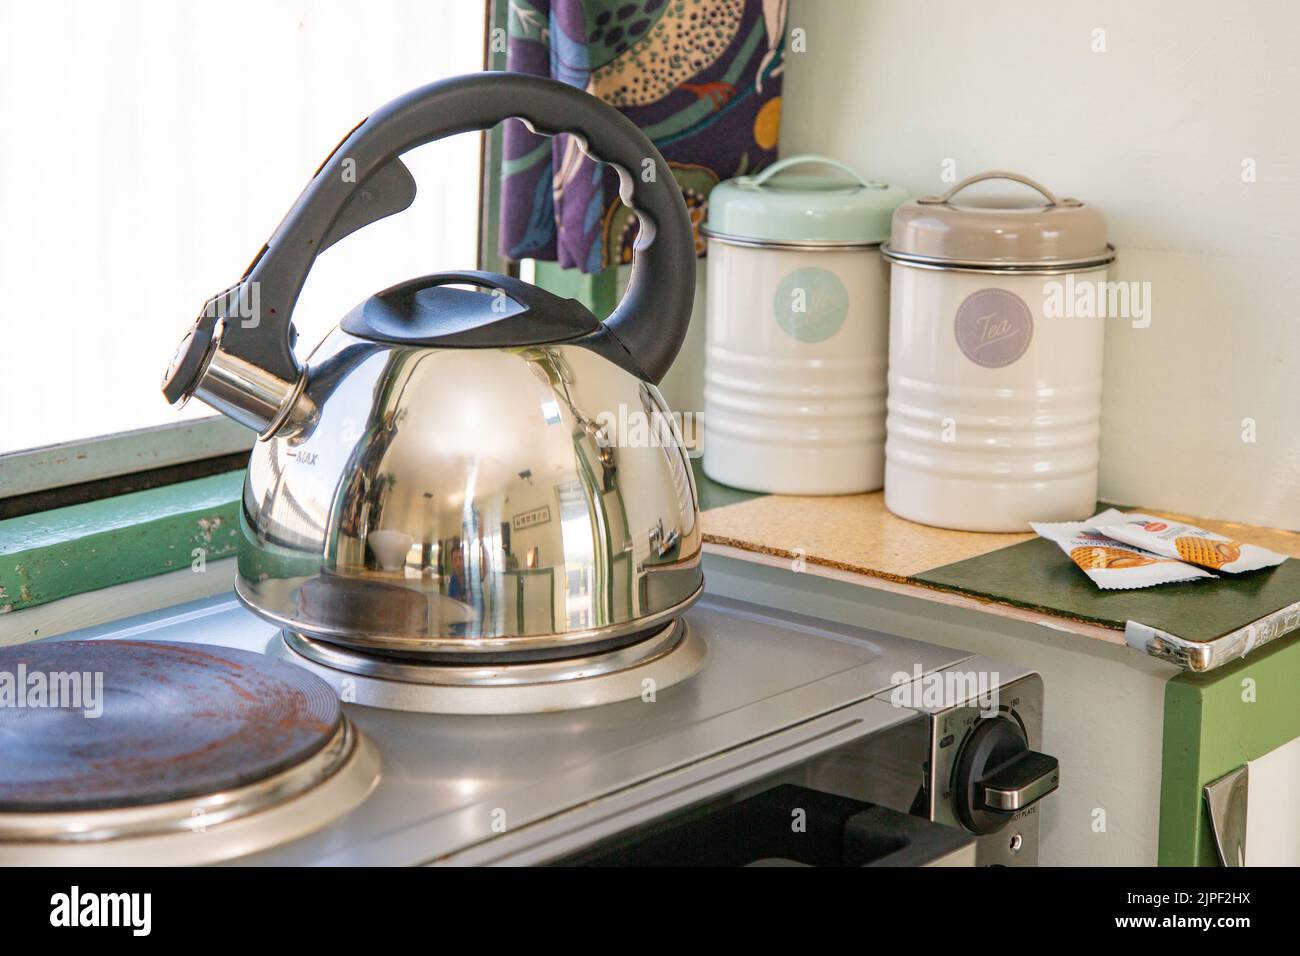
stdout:
<svg viewBox="0 0 1300 956">
<path fill-rule="evenodd" d="M 343 709 L 307 671 L 261 654 L 162 641 L 0 649 L 18 680 L 0 708 L 0 813 L 140 806 L 248 786 L 308 760 Z M 48 705 L 47 705 L 48 704 Z"/>
</svg>

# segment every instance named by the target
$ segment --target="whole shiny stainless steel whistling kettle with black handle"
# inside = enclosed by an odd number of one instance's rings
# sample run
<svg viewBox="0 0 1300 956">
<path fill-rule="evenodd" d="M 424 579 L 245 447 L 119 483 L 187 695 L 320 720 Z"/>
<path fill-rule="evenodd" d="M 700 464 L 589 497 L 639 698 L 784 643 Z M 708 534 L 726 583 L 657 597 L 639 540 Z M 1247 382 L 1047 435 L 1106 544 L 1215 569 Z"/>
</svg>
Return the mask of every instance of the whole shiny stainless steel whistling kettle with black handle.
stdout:
<svg viewBox="0 0 1300 956">
<path fill-rule="evenodd" d="M 602 323 L 508 276 L 436 273 L 368 298 L 303 367 L 291 317 L 307 273 L 411 204 L 400 153 L 510 117 L 618 169 L 641 222 L 618 310 Z M 594 96 L 481 73 L 373 113 L 207 303 L 162 384 L 259 433 L 239 597 L 289 635 L 429 662 L 654 643 L 703 584 L 694 480 L 655 388 L 690 321 L 694 268 L 663 156 Z"/>
</svg>

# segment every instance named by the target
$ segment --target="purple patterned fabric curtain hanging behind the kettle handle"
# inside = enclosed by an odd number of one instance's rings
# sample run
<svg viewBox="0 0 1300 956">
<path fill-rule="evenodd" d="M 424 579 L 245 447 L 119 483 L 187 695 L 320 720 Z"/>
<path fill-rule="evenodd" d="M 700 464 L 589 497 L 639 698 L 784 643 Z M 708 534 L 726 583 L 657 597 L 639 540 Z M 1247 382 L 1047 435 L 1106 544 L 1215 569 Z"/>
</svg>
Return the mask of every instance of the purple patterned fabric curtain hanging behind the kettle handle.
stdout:
<svg viewBox="0 0 1300 956">
<path fill-rule="evenodd" d="M 786 0 L 510 0 L 507 69 L 623 111 L 668 161 L 703 252 L 710 190 L 776 159 Z M 632 260 L 618 176 L 571 137 L 508 121 L 500 251 L 582 272 Z"/>
</svg>

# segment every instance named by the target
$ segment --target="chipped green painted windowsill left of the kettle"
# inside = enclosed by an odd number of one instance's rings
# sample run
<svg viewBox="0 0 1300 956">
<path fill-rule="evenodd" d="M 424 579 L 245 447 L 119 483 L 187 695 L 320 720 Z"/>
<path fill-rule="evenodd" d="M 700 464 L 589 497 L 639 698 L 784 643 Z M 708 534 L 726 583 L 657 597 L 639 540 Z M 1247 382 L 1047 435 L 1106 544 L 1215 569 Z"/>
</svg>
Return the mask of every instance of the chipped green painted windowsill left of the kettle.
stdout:
<svg viewBox="0 0 1300 956">
<path fill-rule="evenodd" d="M 0 522 L 0 613 L 235 553 L 243 471 Z"/>
</svg>

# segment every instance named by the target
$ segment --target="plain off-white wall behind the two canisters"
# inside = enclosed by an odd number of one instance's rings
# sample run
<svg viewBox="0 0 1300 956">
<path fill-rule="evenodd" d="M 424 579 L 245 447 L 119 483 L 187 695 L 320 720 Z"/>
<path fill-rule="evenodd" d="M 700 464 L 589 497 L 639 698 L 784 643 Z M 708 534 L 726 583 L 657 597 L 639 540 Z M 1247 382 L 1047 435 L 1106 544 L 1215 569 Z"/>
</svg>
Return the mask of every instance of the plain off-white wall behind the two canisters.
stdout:
<svg viewBox="0 0 1300 956">
<path fill-rule="evenodd" d="M 1014 169 L 1106 213 L 1153 316 L 1106 329 L 1104 497 L 1300 529 L 1300 4 L 793 0 L 789 26 L 783 153 L 916 195 L 945 159 Z"/>
</svg>

